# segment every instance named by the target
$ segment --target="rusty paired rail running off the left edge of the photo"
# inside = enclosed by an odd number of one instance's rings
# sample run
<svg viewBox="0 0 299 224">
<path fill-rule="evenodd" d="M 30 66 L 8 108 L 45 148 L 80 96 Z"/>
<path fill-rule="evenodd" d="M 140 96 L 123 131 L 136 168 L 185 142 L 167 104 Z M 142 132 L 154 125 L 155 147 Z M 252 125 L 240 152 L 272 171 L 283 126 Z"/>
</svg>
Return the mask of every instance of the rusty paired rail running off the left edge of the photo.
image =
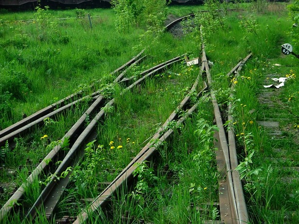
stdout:
<svg viewBox="0 0 299 224">
<path fill-rule="evenodd" d="M 123 70 L 124 68 L 130 66 L 131 64 L 135 63 L 138 60 L 138 58 L 141 57 L 141 54 L 143 52 L 144 52 L 144 50 L 142 50 L 139 54 L 137 54 L 135 57 L 133 57 L 130 61 L 128 61 L 126 64 L 123 64 L 121 67 L 117 68 L 110 74 L 114 75 L 115 73 L 117 73 L 117 72 Z M 100 80 L 98 80 L 98 81 L 100 81 Z M 92 86 L 93 85 L 91 85 L 90 87 L 92 87 Z M 66 106 L 67 101 L 73 100 L 76 96 L 81 97 L 82 94 L 83 94 L 83 91 L 79 91 L 75 94 L 71 94 L 70 96 L 63 98 L 63 99 L 51 104 L 50 106 L 31 114 L 30 116 L 18 121 L 17 123 L 15 123 L 7 128 L 4 128 L 3 130 L 0 130 L 0 146 L 4 145 L 6 143 L 6 141 L 12 140 L 15 137 L 17 137 L 24 130 L 24 129 L 21 130 L 21 128 L 34 123 L 37 119 L 39 119 L 41 117 L 47 117 L 47 114 L 49 114 L 51 112 L 55 112 L 55 109 L 57 107 L 61 108 L 63 106 Z M 99 94 L 99 93 L 97 93 L 97 94 Z M 94 96 L 94 94 L 91 96 Z M 66 108 L 69 108 L 70 106 L 71 105 L 69 103 Z M 48 117 L 50 117 L 50 116 L 48 116 Z M 35 124 L 33 124 L 33 125 L 35 125 Z M 31 126 L 29 125 L 27 127 L 29 128 Z M 13 134 L 13 133 L 15 133 L 15 134 Z M 8 137 L 8 135 L 10 135 L 10 137 Z"/>
</svg>

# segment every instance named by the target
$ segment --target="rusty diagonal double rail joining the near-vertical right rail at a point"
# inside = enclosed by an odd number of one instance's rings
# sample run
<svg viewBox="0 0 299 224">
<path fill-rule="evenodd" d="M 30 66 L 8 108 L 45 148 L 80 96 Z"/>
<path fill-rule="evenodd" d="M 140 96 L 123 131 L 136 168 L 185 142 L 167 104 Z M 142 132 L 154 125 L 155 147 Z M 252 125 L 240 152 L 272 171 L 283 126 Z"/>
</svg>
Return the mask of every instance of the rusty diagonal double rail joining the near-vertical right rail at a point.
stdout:
<svg viewBox="0 0 299 224">
<path fill-rule="evenodd" d="M 198 87 L 198 81 L 200 76 L 202 75 L 202 69 L 200 74 L 197 76 L 189 94 L 185 96 L 185 98 L 181 101 L 181 103 L 177 106 L 176 110 L 171 113 L 171 115 L 166 119 L 165 123 L 158 128 L 157 132 L 151 138 L 151 140 L 141 149 L 138 155 L 123 169 L 123 171 L 106 187 L 106 189 L 99 194 L 95 200 L 92 202 L 90 207 L 86 208 L 85 211 L 82 211 L 77 217 L 73 224 L 82 224 L 88 220 L 88 214 L 92 214 L 99 208 L 105 207 L 111 200 L 111 197 L 115 192 L 125 183 L 132 178 L 133 171 L 136 169 L 135 164 L 141 163 L 145 160 L 148 160 L 156 149 L 167 140 L 169 136 L 173 133 L 173 129 L 168 127 L 169 122 L 174 121 L 178 117 L 178 112 L 182 109 L 186 108 L 187 103 L 190 100 L 190 95 L 196 91 Z M 207 84 L 203 83 L 203 89 L 196 95 L 200 97 L 202 93 L 208 88 Z M 198 102 L 193 105 L 185 114 L 182 116 L 176 124 L 179 125 L 185 121 L 185 119 L 194 112 L 198 107 Z"/>
</svg>

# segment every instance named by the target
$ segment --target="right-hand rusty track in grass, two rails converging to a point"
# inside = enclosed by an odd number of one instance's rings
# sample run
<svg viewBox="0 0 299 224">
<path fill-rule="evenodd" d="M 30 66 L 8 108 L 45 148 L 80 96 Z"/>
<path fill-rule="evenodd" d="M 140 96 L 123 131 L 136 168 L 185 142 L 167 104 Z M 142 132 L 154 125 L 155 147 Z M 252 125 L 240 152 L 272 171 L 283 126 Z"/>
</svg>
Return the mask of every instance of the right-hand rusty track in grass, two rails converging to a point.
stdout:
<svg viewBox="0 0 299 224">
<path fill-rule="evenodd" d="M 202 66 L 200 69 L 200 76 L 203 75 L 203 72 L 207 74 L 207 80 L 209 85 L 211 85 L 211 75 L 209 71 L 209 65 L 206 59 L 204 45 L 202 48 L 203 56 L 202 56 Z M 244 60 L 242 60 L 237 66 L 235 66 L 229 74 L 234 71 L 240 71 L 242 65 L 246 62 L 246 60 L 251 56 L 249 54 Z M 228 75 L 229 75 L 228 74 Z M 146 144 L 140 151 L 140 153 L 127 165 L 126 168 L 117 176 L 106 189 L 101 192 L 91 203 L 91 205 L 87 208 L 87 210 L 81 212 L 76 218 L 74 218 L 73 224 L 80 224 L 88 221 L 88 217 L 92 215 L 94 212 L 98 210 L 104 209 L 107 204 L 111 201 L 111 198 L 114 194 L 116 194 L 117 190 L 120 189 L 123 185 L 128 184 L 131 179 L 133 178 L 133 172 L 136 169 L 136 164 L 141 164 L 147 160 L 150 160 L 151 157 L 155 155 L 158 147 L 163 144 L 173 133 L 172 128 L 167 128 L 169 122 L 176 121 L 176 124 L 179 125 L 185 121 L 185 119 L 191 115 L 194 111 L 197 110 L 198 104 L 195 103 L 193 106 L 187 106 L 187 103 L 190 99 L 190 93 L 192 93 L 196 86 L 198 85 L 198 79 L 195 80 L 191 91 L 189 92 L 189 96 L 186 96 L 177 107 L 177 109 L 169 116 L 166 122 L 163 124 L 161 128 L 158 129 L 156 134 L 152 137 L 151 141 Z M 200 97 L 203 91 L 206 91 L 208 86 L 206 82 L 203 84 L 203 89 L 199 91 L 196 97 Z M 219 173 L 222 175 L 222 179 L 219 181 L 219 203 L 220 208 L 220 220 L 217 221 L 210 221 L 212 223 L 231 223 L 231 224 L 241 224 L 248 222 L 248 214 L 247 208 L 245 203 L 245 198 L 242 190 L 242 185 L 240 181 L 240 176 L 237 171 L 232 169 L 236 167 L 238 164 L 237 157 L 236 157 L 236 148 L 235 144 L 233 144 L 234 139 L 230 139 L 228 147 L 228 141 L 226 140 L 226 133 L 223 128 L 222 117 L 219 111 L 219 107 L 215 96 L 211 94 L 212 103 L 214 107 L 214 114 L 217 126 L 219 128 L 219 132 L 215 135 L 216 139 L 218 140 L 215 143 L 218 147 L 216 151 L 216 160 L 217 160 L 217 167 Z M 178 111 L 184 109 L 186 110 L 186 114 L 181 118 L 178 117 Z M 230 155 L 229 155 L 230 154 Z M 194 205 L 193 205 L 194 206 Z M 133 222 L 133 221 L 131 221 Z M 144 221 L 140 221 L 141 223 Z M 208 221 L 207 221 L 208 223 Z"/>
</svg>

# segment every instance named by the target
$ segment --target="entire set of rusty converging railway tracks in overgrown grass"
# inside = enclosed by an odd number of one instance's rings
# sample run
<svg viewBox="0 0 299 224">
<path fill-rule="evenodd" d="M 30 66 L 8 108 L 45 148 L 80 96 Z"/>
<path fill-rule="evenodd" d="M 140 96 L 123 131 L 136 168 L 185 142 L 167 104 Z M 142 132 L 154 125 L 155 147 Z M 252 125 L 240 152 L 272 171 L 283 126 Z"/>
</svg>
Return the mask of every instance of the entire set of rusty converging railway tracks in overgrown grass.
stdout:
<svg viewBox="0 0 299 224">
<path fill-rule="evenodd" d="M 212 79 L 209 69 L 208 60 L 205 53 L 204 44 L 202 46 L 202 56 L 201 56 L 201 68 L 200 73 L 198 74 L 196 80 L 190 92 L 186 95 L 186 97 L 181 101 L 181 103 L 177 106 L 176 110 L 169 116 L 169 118 L 164 122 L 164 124 L 157 130 L 154 136 L 151 138 L 150 141 L 141 149 L 138 155 L 131 160 L 131 162 L 120 172 L 120 174 L 112 181 L 108 183 L 106 189 L 101 192 L 97 197 L 95 197 L 91 204 L 82 212 L 78 214 L 76 218 L 70 218 L 68 216 L 59 219 L 60 223 L 84 223 L 88 221 L 90 216 L 93 213 L 105 209 L 105 207 L 111 202 L 111 198 L 115 196 L 116 192 L 123 186 L 128 184 L 133 179 L 133 172 L 136 169 L 136 164 L 141 164 L 148 160 L 151 160 L 153 156 L 156 155 L 156 151 L 158 147 L 160 147 L 166 140 L 170 138 L 173 134 L 174 129 L 169 125 L 170 123 L 175 123 L 176 126 L 185 122 L 185 120 L 197 110 L 198 101 L 193 103 L 190 100 L 190 97 L 196 93 L 196 98 L 199 99 L 205 91 L 208 91 L 208 88 L 212 86 Z M 119 68 L 118 70 L 114 71 L 113 74 L 119 72 L 123 69 L 123 72 L 113 81 L 113 83 L 130 83 L 134 79 L 134 77 L 123 78 L 125 74 L 124 68 L 130 66 L 131 64 L 138 63 L 141 59 L 138 59 L 141 56 L 134 57 L 130 62 Z M 228 76 L 242 68 L 242 65 L 246 62 L 246 60 L 250 57 L 248 55 L 244 60 L 242 60 L 239 64 L 237 64 L 229 73 Z M 170 64 L 181 62 L 182 57 L 176 57 L 172 60 L 169 60 L 165 63 L 159 64 L 157 66 L 152 67 L 144 72 L 140 73 L 140 79 L 134 81 L 132 84 L 128 85 L 124 88 L 123 92 L 132 89 L 133 87 L 139 85 L 143 80 L 147 77 L 156 74 L 161 69 L 169 66 Z M 207 81 L 203 83 L 199 83 L 199 78 L 206 76 Z M 234 134 L 231 130 L 229 132 L 229 141 L 226 137 L 226 132 L 223 127 L 223 120 L 224 118 L 221 117 L 221 112 L 218 107 L 218 103 L 216 101 L 215 95 L 213 91 L 210 90 L 211 94 L 211 101 L 213 104 L 215 121 L 219 128 L 219 132 L 215 135 L 215 138 L 218 139 L 218 142 L 215 142 L 218 150 L 215 151 L 216 160 L 217 160 L 217 167 L 218 171 L 221 174 L 221 178 L 219 180 L 219 201 L 214 202 L 216 205 L 219 205 L 220 209 L 220 219 L 214 220 L 210 222 L 214 223 L 226 223 L 226 224 L 242 224 L 248 222 L 248 214 L 246 210 L 246 204 L 244 199 L 244 194 L 242 190 L 242 185 L 240 181 L 240 177 L 238 172 L 234 170 L 236 165 L 238 164 L 237 157 L 236 157 L 236 148 L 235 148 L 235 140 Z M 77 101 L 73 101 L 69 104 L 66 104 L 67 100 L 73 99 L 74 96 L 80 96 L 79 94 L 71 95 L 66 97 L 65 99 L 58 101 L 57 103 L 39 111 L 35 114 L 23 119 L 22 121 L 16 123 L 15 125 L 6 128 L 0 132 L 0 144 L 3 145 L 6 142 L 12 142 L 12 140 L 28 131 L 29 128 L 38 125 L 41 123 L 45 118 L 52 117 L 56 113 L 61 112 L 67 108 L 70 108 L 76 102 L 83 100 L 84 97 L 79 98 Z M 50 181 L 47 183 L 46 187 L 43 189 L 40 196 L 37 198 L 35 203 L 29 209 L 27 214 L 24 214 L 25 222 L 33 222 L 36 214 L 38 213 L 39 209 L 44 209 L 45 214 L 48 220 L 53 220 L 55 216 L 53 215 L 54 209 L 59 202 L 60 197 L 63 194 L 65 187 L 69 183 L 70 172 L 68 172 L 69 167 L 73 167 L 74 164 L 80 157 L 74 160 L 76 156 L 83 156 L 84 151 L 81 149 L 84 147 L 85 144 L 94 140 L 96 138 L 96 133 L 94 132 L 94 128 L 98 125 L 101 119 L 104 119 L 105 106 L 111 106 L 114 104 L 114 98 L 110 101 L 105 100 L 106 97 L 101 95 L 100 91 L 96 91 L 93 94 L 89 95 L 88 97 L 93 97 L 93 103 L 88 108 L 88 110 L 84 113 L 84 115 L 78 120 L 78 122 L 70 128 L 67 134 L 62 138 L 62 142 L 69 138 L 70 141 L 70 150 L 66 155 L 63 155 L 64 159 L 60 163 L 58 167 L 53 168 L 54 176 L 51 177 Z M 57 109 L 59 107 L 59 109 Z M 56 110 L 54 110 L 56 109 Z M 179 116 L 180 112 L 184 111 L 183 116 Z M 93 114 L 94 118 L 89 123 L 86 128 L 83 128 L 83 122 L 86 119 L 86 116 L 89 114 Z M 80 131 L 79 131 L 80 130 Z M 11 144 L 11 148 L 13 149 L 14 144 Z M 78 152 L 80 151 L 81 152 Z M 25 185 L 30 184 L 34 178 L 37 178 L 41 175 L 42 172 L 45 172 L 46 167 L 49 165 L 47 164 L 47 160 L 51 159 L 53 161 L 58 159 L 58 152 L 61 151 L 61 145 L 55 146 L 55 148 L 48 154 L 44 160 L 40 162 L 37 168 L 33 171 L 33 173 L 28 177 L 26 180 L 27 182 L 24 183 L 18 190 L 11 196 L 11 198 L 7 201 L 7 203 L 1 208 L 0 210 L 0 219 L 2 220 L 8 213 L 11 212 L 12 208 L 15 209 L 18 207 L 18 201 L 23 197 L 23 193 L 25 191 Z M 61 156 L 60 156 L 61 157 Z M 164 168 L 165 169 L 165 168 Z M 166 173 L 167 173 L 167 169 Z M 64 176 L 64 178 L 59 178 L 59 176 Z M 199 205 L 192 205 L 197 209 Z M 131 220 L 126 222 L 139 222 L 145 223 L 143 220 Z M 207 222 L 209 222 L 207 220 Z"/>
</svg>

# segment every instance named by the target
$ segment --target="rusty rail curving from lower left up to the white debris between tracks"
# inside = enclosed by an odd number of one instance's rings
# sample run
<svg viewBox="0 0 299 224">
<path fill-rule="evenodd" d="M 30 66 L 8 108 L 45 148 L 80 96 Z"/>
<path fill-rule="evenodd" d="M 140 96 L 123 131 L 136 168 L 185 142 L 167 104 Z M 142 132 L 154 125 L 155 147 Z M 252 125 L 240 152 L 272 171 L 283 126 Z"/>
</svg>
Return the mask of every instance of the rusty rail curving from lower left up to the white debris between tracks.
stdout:
<svg viewBox="0 0 299 224">
<path fill-rule="evenodd" d="M 135 81 L 130 86 L 126 87 L 121 94 L 123 94 L 124 92 L 132 89 L 134 86 L 138 85 L 142 80 L 149 77 L 150 75 L 153 75 L 153 74 L 157 73 L 158 71 L 164 69 L 165 67 L 167 67 L 167 66 L 169 66 L 173 63 L 179 62 L 181 60 L 183 60 L 183 59 L 181 59 L 179 57 L 176 57 L 175 59 L 169 60 L 165 63 L 161 63 L 158 66 L 158 68 L 156 68 L 154 70 L 150 69 L 151 72 L 144 75 L 142 78 Z M 107 106 L 112 106 L 112 105 L 114 105 L 114 102 L 115 102 L 115 99 L 113 98 L 106 105 Z M 62 187 L 60 185 L 62 184 L 63 186 L 66 186 L 69 182 L 68 178 L 63 180 L 63 181 L 60 181 L 60 179 L 58 179 L 56 176 L 60 176 L 68 167 L 70 167 L 71 159 L 74 158 L 77 155 L 79 149 L 82 148 L 82 146 L 86 143 L 86 139 L 92 134 L 92 132 L 94 131 L 94 128 L 97 126 L 98 122 L 103 118 L 104 114 L 105 114 L 105 111 L 102 108 L 101 111 L 92 119 L 92 121 L 89 123 L 89 125 L 80 134 L 80 136 L 78 137 L 76 142 L 71 146 L 69 152 L 67 153 L 65 158 L 62 160 L 62 162 L 60 163 L 60 165 L 58 166 L 58 168 L 54 172 L 55 175 L 52 176 L 50 182 L 48 182 L 45 189 L 41 192 L 40 196 L 35 201 L 35 204 L 32 206 L 30 211 L 27 213 L 26 218 L 25 218 L 27 221 L 30 221 L 35 217 L 36 212 L 41 207 L 41 205 L 43 205 L 44 207 L 47 207 L 47 205 L 45 205 L 44 202 L 47 202 L 47 203 L 51 204 L 52 208 L 56 207 L 56 204 L 58 203 L 58 201 L 60 199 L 60 196 L 52 198 L 52 197 L 49 197 L 49 195 L 53 194 L 52 193 L 53 189 L 60 189 L 61 191 L 59 192 L 59 194 L 62 195 L 63 190 L 62 190 Z M 96 138 L 96 136 L 94 136 L 94 138 Z M 53 209 L 48 209 L 47 213 L 48 213 L 47 217 L 49 219 L 51 219 Z"/>
</svg>

